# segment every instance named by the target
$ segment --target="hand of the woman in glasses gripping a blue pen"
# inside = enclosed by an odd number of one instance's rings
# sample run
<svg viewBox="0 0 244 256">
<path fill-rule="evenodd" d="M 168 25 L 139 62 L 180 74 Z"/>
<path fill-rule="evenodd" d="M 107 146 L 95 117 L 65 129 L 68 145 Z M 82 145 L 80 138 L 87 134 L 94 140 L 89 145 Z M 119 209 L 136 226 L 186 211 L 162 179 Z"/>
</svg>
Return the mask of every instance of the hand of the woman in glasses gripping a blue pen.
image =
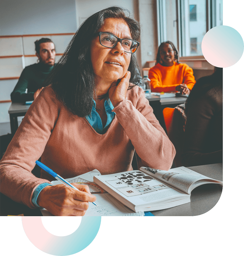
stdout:
<svg viewBox="0 0 244 256">
<path fill-rule="evenodd" d="M 64 184 L 47 186 L 38 195 L 37 204 L 54 216 L 84 216 L 88 202 L 94 202 L 89 187 L 72 183 L 79 191 Z"/>
</svg>

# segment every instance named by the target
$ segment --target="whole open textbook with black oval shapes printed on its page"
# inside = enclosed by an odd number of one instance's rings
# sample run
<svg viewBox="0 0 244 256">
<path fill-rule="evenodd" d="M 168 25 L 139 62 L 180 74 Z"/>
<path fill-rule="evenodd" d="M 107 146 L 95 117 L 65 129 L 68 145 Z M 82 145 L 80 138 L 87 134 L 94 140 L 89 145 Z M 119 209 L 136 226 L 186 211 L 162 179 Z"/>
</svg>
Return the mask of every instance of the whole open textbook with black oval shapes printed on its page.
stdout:
<svg viewBox="0 0 244 256">
<path fill-rule="evenodd" d="M 96 184 L 134 212 L 163 210 L 190 202 L 191 191 L 214 180 L 186 167 L 163 171 L 148 167 L 140 170 L 95 175 Z"/>
</svg>

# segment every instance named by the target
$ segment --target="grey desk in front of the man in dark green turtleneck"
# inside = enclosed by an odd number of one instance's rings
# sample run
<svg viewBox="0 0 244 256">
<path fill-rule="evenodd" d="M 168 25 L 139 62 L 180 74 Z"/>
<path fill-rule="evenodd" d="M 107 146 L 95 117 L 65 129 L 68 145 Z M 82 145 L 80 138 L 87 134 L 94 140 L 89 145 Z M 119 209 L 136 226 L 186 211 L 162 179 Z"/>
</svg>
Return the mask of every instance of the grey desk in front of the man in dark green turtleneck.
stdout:
<svg viewBox="0 0 244 256">
<path fill-rule="evenodd" d="M 9 107 L 9 117 L 10 117 L 10 128 L 11 134 L 14 135 L 19 127 L 18 118 L 26 114 L 30 105 L 24 105 L 24 103 L 12 102 Z"/>
</svg>

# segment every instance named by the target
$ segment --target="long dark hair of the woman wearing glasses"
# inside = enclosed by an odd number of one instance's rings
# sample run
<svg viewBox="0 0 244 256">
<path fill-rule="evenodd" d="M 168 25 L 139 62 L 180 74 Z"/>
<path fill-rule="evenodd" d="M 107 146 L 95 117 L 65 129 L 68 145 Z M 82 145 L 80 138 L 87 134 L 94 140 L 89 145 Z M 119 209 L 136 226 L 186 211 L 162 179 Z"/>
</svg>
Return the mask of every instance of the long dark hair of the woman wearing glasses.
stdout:
<svg viewBox="0 0 244 256">
<path fill-rule="evenodd" d="M 129 17 L 128 10 L 112 6 L 88 17 L 71 39 L 63 56 L 50 72 L 44 87 L 52 84 L 57 98 L 79 117 L 91 113 L 95 91 L 95 76 L 91 63 L 90 44 L 94 34 L 102 27 L 106 18 L 124 19 L 132 39 L 138 41 L 140 24 Z M 131 89 L 140 81 L 139 66 L 135 54 L 131 54 L 128 67 L 131 72 Z M 107 94 L 108 95 L 108 94 Z M 103 98 L 105 98 L 104 95 Z"/>
</svg>

